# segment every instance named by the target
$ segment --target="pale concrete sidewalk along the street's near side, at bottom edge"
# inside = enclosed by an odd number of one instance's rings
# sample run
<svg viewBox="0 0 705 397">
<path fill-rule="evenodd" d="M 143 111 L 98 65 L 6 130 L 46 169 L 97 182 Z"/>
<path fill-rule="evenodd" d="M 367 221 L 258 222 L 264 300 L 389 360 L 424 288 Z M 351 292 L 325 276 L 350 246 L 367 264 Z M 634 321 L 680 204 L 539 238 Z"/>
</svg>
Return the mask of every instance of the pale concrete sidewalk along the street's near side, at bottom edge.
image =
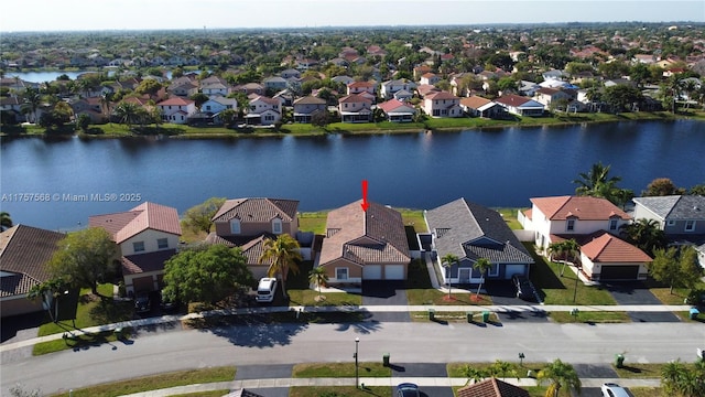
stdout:
<svg viewBox="0 0 705 397">
<path fill-rule="evenodd" d="M 509 384 L 531 387 L 536 386 L 538 382 L 533 378 L 502 378 Z M 394 387 L 401 383 L 410 382 L 420 387 L 460 387 L 467 384 L 467 378 L 451 377 L 361 377 L 360 385 L 366 387 Z M 604 383 L 615 382 L 614 378 L 581 378 L 583 387 L 599 387 Z M 619 385 L 623 387 L 659 387 L 660 379 L 628 379 L 620 378 Z M 203 393 L 210 390 L 239 390 L 271 387 L 312 387 L 312 386 L 355 386 L 355 378 L 273 378 L 273 379 L 247 379 L 234 382 L 217 382 L 210 384 L 198 384 L 171 387 L 160 390 L 151 390 L 126 395 L 123 397 L 162 397 L 182 395 L 188 393 Z"/>
</svg>

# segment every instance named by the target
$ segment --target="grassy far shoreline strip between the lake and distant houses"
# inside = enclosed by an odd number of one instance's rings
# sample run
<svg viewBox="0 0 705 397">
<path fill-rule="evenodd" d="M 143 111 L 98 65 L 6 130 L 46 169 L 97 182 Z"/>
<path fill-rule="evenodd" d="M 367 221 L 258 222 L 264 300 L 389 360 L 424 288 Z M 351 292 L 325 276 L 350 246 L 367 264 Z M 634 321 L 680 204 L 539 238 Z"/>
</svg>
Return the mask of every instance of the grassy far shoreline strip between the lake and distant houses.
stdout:
<svg viewBox="0 0 705 397">
<path fill-rule="evenodd" d="M 517 117 L 514 120 L 491 120 L 481 118 L 441 118 L 427 119 L 423 122 L 395 124 L 395 122 L 368 122 L 343 124 L 335 122 L 326 128 L 304 124 L 288 124 L 279 129 L 249 128 L 229 129 L 225 127 L 189 127 L 181 125 L 160 125 L 128 128 L 123 125 L 107 124 L 90 126 L 90 133 L 76 132 L 73 126 L 66 126 L 61 130 L 47 131 L 39 126 L 3 126 L 0 137 L 69 137 L 78 136 L 86 139 L 105 138 L 142 138 L 167 137 L 170 139 L 241 139 L 241 138 L 283 138 L 292 137 L 325 137 L 328 135 L 365 136 L 390 133 L 421 133 L 421 132 L 459 132 L 459 131 L 491 131 L 506 128 L 540 128 L 540 127 L 571 127 L 588 124 L 623 122 L 623 121 L 675 121 L 675 120 L 705 121 L 705 111 L 693 111 L 687 115 L 673 115 L 668 111 L 655 112 L 629 112 L 620 115 L 611 114 L 578 114 L 557 115 L 540 118 Z"/>
</svg>

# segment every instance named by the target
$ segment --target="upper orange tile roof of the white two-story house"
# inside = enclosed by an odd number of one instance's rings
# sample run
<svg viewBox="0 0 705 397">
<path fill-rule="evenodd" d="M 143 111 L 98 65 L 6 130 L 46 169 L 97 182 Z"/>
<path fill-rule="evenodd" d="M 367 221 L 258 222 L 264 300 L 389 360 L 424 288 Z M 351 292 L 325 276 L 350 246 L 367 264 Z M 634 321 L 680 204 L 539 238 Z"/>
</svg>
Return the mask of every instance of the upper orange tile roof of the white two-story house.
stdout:
<svg viewBox="0 0 705 397">
<path fill-rule="evenodd" d="M 608 200 L 587 196 L 554 196 L 531 198 L 550 221 L 565 221 L 575 217 L 583 221 L 607 221 L 614 216 L 631 219 L 626 212 Z"/>
</svg>

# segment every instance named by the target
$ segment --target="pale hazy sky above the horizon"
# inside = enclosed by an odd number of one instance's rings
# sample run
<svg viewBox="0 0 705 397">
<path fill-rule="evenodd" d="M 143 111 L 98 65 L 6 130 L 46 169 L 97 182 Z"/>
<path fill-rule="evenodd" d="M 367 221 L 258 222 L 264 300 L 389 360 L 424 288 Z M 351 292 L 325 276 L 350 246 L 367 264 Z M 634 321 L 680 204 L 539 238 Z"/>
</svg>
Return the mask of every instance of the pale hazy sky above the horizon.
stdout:
<svg viewBox="0 0 705 397">
<path fill-rule="evenodd" d="M 705 0 L 23 0 L 14 11 L 4 9 L 2 32 L 705 22 Z"/>
</svg>

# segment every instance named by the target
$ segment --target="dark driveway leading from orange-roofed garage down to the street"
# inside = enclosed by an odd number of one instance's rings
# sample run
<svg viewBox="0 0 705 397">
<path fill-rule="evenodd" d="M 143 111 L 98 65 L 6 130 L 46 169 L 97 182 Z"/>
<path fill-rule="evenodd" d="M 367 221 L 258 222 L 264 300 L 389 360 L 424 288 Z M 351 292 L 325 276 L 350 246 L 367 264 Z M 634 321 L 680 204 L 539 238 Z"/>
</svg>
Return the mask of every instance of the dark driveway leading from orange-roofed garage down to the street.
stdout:
<svg viewBox="0 0 705 397">
<path fill-rule="evenodd" d="M 649 291 L 641 281 L 605 282 L 603 287 L 615 298 L 617 304 L 663 304 Z M 680 322 L 681 320 L 671 312 L 627 312 L 633 322 Z"/>
</svg>

